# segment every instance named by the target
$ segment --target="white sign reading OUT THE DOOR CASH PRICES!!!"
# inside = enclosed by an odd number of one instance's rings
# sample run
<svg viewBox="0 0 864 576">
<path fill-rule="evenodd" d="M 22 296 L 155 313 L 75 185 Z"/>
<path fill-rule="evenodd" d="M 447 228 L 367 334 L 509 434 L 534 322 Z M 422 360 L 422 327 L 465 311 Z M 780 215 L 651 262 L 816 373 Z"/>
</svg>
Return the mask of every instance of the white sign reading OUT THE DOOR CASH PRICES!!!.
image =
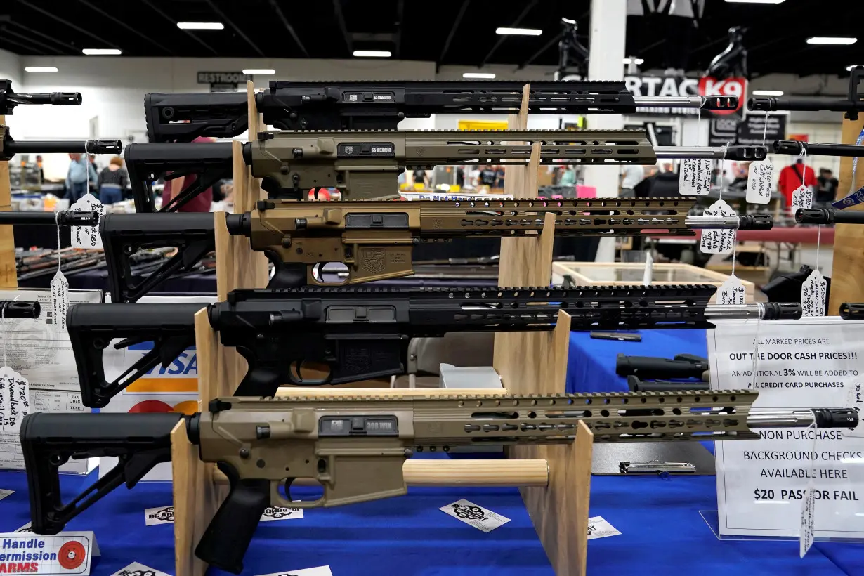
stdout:
<svg viewBox="0 0 864 576">
<path fill-rule="evenodd" d="M 864 322 L 718 322 L 708 356 L 711 387 L 754 389 L 754 408 L 864 408 Z M 864 537 L 864 426 L 754 432 L 715 444 L 722 535 L 797 536 L 812 482 L 815 536 Z"/>
</svg>

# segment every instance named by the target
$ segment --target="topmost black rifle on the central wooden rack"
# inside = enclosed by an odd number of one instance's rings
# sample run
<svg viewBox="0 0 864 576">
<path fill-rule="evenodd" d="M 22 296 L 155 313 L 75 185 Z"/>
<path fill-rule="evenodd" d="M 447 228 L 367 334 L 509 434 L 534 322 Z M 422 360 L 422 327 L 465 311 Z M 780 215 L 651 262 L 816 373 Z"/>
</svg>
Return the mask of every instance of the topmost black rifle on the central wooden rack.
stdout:
<svg viewBox="0 0 864 576">
<path fill-rule="evenodd" d="M 519 111 L 526 82 L 277 80 L 255 97 L 264 123 L 280 130 L 396 130 L 406 117 Z M 734 96 L 634 97 L 624 82 L 530 82 L 532 114 L 635 114 L 637 106 L 735 110 Z M 246 94 L 161 94 L 144 97 L 150 142 L 230 138 L 249 127 Z"/>
</svg>

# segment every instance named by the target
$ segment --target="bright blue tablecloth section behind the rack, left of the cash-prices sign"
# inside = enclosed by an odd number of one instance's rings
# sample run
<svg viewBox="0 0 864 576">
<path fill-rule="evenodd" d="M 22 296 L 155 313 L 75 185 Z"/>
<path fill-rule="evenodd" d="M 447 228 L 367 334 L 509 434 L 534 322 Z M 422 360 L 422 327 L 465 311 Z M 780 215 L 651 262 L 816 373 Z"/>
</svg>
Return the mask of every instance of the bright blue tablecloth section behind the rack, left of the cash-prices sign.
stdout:
<svg viewBox="0 0 864 576">
<path fill-rule="evenodd" d="M 642 330 L 641 342 L 621 342 L 591 338 L 590 332 L 570 332 L 567 362 L 568 392 L 629 392 L 627 379 L 615 374 L 615 357 L 658 356 L 673 358 L 677 354 L 696 354 L 708 358 L 705 331 Z"/>
</svg>

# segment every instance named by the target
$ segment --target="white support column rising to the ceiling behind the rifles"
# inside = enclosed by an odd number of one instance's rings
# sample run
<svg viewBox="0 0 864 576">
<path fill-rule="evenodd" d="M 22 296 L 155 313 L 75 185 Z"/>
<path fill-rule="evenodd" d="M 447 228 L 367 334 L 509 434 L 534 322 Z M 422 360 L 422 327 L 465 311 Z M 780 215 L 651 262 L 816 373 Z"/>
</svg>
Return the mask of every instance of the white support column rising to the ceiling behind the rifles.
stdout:
<svg viewBox="0 0 864 576">
<path fill-rule="evenodd" d="M 627 0 L 591 0 L 591 35 L 588 59 L 589 80 L 623 80 L 627 33 Z M 589 115 L 588 130 L 621 130 L 624 117 L 618 114 Z M 618 196 L 620 169 L 613 166 L 586 166 L 585 185 L 597 188 L 599 197 Z M 597 262 L 613 262 L 615 239 L 600 238 Z"/>
</svg>

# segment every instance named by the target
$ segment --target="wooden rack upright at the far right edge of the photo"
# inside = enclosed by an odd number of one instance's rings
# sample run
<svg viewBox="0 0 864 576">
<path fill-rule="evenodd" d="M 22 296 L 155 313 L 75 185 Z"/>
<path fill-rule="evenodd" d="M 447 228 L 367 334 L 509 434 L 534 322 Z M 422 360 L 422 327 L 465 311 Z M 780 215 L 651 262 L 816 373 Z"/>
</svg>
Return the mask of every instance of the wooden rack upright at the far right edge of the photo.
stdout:
<svg viewBox="0 0 864 576">
<path fill-rule="evenodd" d="M 843 120 L 842 143 L 854 144 L 861 129 L 864 128 L 864 116 L 858 120 Z M 864 186 L 864 165 L 858 161 L 858 171 L 855 181 L 852 181 L 852 163 L 854 158 L 840 159 L 840 185 L 837 187 L 837 199 L 849 193 L 849 187 L 857 190 Z M 864 205 L 851 206 L 845 211 L 864 210 Z M 844 302 L 864 302 L 864 226 L 857 224 L 838 224 L 834 229 L 834 270 L 831 272 L 831 294 L 828 309 L 825 313 L 836 316 L 840 313 L 840 305 Z"/>
</svg>

